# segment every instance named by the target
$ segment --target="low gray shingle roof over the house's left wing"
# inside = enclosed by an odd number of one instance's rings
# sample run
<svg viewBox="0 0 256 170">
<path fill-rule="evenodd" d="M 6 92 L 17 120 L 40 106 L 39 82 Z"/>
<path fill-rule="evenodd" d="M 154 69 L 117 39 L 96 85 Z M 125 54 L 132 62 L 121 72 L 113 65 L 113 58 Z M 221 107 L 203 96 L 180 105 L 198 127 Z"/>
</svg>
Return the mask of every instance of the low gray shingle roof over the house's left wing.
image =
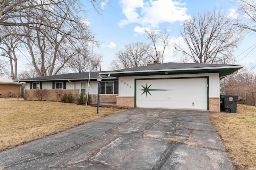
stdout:
<svg viewBox="0 0 256 170">
<path fill-rule="evenodd" d="M 98 76 L 98 72 L 91 72 L 90 79 L 96 79 Z M 105 75 L 100 75 L 103 79 L 104 78 L 113 78 L 108 77 Z M 35 77 L 35 78 L 26 78 L 16 81 L 27 82 L 27 81 L 51 81 L 51 80 L 88 80 L 89 79 L 89 72 L 78 72 L 78 73 L 68 73 L 68 74 L 59 74 L 54 76 L 42 76 L 42 77 Z"/>
</svg>

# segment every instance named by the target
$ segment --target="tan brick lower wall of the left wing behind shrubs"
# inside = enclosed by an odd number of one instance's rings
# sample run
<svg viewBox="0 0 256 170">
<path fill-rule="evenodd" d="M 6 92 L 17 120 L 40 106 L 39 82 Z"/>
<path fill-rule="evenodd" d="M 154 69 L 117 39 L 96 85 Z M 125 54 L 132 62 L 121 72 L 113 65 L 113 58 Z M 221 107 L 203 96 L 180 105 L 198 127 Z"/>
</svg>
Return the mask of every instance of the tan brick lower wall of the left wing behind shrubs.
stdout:
<svg viewBox="0 0 256 170">
<path fill-rule="evenodd" d="M 36 96 L 34 96 L 34 91 L 35 90 L 25 90 L 25 98 L 27 98 L 27 100 L 38 100 L 36 98 Z M 57 99 L 57 93 L 56 92 L 63 92 L 63 93 L 71 93 L 74 94 L 74 90 L 46 90 L 46 95 L 43 98 L 43 100 L 46 101 L 58 101 Z M 75 90 L 75 94 L 79 94 L 79 90 Z"/>
</svg>

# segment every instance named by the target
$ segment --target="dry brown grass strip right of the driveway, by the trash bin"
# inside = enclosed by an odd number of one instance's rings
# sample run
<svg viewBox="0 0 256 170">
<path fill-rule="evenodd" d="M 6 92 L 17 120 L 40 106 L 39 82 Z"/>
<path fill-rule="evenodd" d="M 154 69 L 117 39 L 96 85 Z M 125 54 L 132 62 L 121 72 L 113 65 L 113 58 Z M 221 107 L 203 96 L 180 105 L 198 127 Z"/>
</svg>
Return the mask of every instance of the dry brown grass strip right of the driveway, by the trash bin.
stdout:
<svg viewBox="0 0 256 170">
<path fill-rule="evenodd" d="M 256 170 L 256 107 L 238 104 L 238 115 L 210 114 L 236 170 Z"/>
</svg>

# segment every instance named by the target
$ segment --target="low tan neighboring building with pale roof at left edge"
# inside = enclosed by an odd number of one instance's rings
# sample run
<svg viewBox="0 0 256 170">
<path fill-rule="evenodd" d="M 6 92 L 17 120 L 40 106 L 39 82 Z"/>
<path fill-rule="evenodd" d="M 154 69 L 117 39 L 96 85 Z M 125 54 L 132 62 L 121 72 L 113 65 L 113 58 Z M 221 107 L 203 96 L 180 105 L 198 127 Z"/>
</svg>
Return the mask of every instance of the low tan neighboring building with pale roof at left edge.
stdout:
<svg viewBox="0 0 256 170">
<path fill-rule="evenodd" d="M 0 97 L 20 97 L 22 83 L 0 77 Z"/>
</svg>

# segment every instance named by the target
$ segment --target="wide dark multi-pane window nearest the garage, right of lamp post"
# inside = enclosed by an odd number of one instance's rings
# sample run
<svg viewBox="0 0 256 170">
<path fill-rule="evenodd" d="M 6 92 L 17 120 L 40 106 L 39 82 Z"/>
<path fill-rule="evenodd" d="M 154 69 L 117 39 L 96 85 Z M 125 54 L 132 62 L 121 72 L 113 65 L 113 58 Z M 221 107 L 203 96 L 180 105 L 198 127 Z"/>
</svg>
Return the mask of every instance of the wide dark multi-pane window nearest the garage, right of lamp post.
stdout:
<svg viewBox="0 0 256 170">
<path fill-rule="evenodd" d="M 118 94 L 118 81 L 100 82 L 100 94 Z"/>
</svg>

